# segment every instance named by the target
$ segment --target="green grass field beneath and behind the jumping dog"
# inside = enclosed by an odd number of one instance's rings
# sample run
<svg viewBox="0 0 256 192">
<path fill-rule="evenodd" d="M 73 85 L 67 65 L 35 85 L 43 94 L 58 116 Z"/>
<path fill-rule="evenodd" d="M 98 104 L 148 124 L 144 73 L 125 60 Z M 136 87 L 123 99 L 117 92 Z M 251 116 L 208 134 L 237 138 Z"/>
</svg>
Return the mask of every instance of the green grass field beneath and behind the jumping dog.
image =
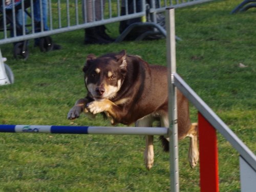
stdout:
<svg viewBox="0 0 256 192">
<path fill-rule="evenodd" d="M 256 9 L 230 11 L 241 1 L 176 9 L 177 71 L 256 153 Z M 107 26 L 118 35 L 118 23 Z M 0 87 L 0 124 L 110 125 L 100 116 L 67 120 L 85 93 L 82 67 L 89 53 L 126 49 L 166 65 L 165 39 L 83 45 L 83 30 L 52 36 L 59 51 L 33 48 L 26 61 L 1 46 L 15 83 Z M 240 67 L 243 63 L 244 68 Z M 191 106 L 191 119 L 197 121 Z M 218 135 L 220 191 L 240 191 L 239 154 Z M 199 191 L 199 166 L 189 167 L 188 139 L 179 143 L 180 190 Z M 143 164 L 143 136 L 8 134 L 0 136 L 0 191 L 168 191 L 169 156 L 155 139 L 155 165 Z M 209 165 L 210 166 L 210 165 Z"/>
</svg>

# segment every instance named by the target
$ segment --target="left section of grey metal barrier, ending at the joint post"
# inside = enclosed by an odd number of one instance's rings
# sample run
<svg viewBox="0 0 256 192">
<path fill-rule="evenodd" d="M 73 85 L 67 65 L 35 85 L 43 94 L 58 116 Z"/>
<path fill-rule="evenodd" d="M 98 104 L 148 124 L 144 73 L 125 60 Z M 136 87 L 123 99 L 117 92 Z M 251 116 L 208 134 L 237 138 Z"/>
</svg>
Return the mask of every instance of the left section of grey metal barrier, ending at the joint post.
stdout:
<svg viewBox="0 0 256 192">
<path fill-rule="evenodd" d="M 2 14 L 0 27 L 4 32 L 0 45 L 145 16 L 144 1 L 141 1 L 140 9 L 136 9 L 136 1 L 133 1 L 133 12 L 127 8 L 121 12 L 122 6 L 127 6 L 128 1 L 120 0 L 1 0 L 0 2 Z M 36 8 L 37 6 L 39 9 Z M 39 15 L 34 10 L 39 11 Z M 27 18 L 26 15 L 31 18 Z M 44 23 L 40 22 L 44 19 Z M 26 20 L 30 25 L 26 24 Z M 29 27 L 31 29 L 27 30 Z M 8 34 L 10 30 L 13 31 L 13 35 Z"/>
</svg>

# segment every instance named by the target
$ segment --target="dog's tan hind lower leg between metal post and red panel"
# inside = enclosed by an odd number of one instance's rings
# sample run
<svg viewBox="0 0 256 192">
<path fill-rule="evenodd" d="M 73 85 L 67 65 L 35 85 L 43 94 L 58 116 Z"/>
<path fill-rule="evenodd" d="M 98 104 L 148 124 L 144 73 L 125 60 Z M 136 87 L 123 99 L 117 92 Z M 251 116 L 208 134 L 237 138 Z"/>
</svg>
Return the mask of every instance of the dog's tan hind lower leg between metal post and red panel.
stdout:
<svg viewBox="0 0 256 192">
<path fill-rule="evenodd" d="M 188 149 L 188 161 L 190 167 L 195 168 L 199 159 L 198 151 L 198 124 L 192 123 L 188 132 L 188 137 L 190 139 L 189 149 Z"/>
</svg>

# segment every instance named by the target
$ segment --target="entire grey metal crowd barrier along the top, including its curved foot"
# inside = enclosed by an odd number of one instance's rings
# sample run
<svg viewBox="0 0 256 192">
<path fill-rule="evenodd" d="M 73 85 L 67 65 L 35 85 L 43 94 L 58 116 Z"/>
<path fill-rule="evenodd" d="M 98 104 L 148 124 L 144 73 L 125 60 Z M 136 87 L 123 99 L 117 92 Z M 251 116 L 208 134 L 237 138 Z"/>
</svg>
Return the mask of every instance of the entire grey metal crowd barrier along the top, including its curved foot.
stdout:
<svg viewBox="0 0 256 192">
<path fill-rule="evenodd" d="M 213 0 L 0 0 L 0 45 L 138 17 L 143 19 L 132 27 L 148 25 L 166 35 L 157 13 L 209 1 Z"/>
</svg>

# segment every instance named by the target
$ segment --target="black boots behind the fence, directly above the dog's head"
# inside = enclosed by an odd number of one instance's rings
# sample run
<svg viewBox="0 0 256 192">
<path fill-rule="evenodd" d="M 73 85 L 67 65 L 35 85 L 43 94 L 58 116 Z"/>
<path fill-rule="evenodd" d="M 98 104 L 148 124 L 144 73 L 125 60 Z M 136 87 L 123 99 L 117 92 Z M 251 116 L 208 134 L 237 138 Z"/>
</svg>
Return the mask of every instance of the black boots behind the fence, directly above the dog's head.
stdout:
<svg viewBox="0 0 256 192">
<path fill-rule="evenodd" d="M 84 44 L 110 44 L 112 41 L 105 39 L 97 30 L 97 27 L 85 29 Z"/>
</svg>

